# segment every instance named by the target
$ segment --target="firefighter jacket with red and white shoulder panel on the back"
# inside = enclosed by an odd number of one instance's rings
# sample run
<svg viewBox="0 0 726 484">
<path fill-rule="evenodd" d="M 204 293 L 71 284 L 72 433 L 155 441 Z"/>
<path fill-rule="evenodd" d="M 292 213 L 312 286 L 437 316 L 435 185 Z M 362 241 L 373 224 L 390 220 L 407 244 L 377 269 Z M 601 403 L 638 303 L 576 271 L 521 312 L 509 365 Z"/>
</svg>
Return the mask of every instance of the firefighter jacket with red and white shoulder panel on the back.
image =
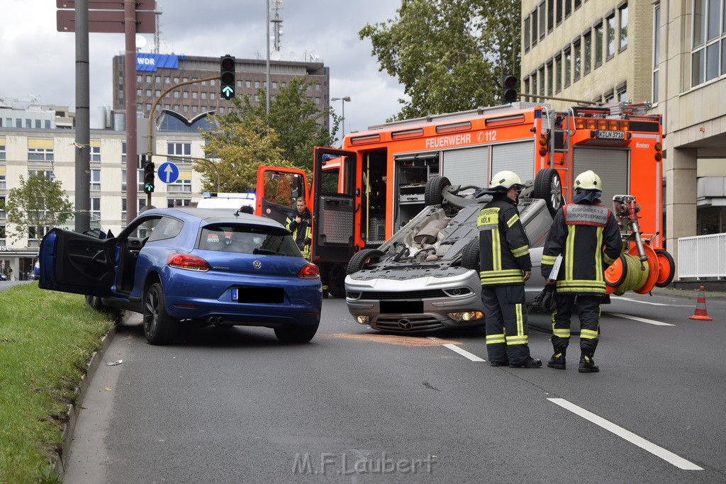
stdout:
<svg viewBox="0 0 726 484">
<path fill-rule="evenodd" d="M 604 250 L 603 250 L 604 249 Z M 605 294 L 604 271 L 622 250 L 620 229 L 611 211 L 600 203 L 568 203 L 560 208 L 542 252 L 542 276 L 562 255 L 557 291 Z"/>
</svg>

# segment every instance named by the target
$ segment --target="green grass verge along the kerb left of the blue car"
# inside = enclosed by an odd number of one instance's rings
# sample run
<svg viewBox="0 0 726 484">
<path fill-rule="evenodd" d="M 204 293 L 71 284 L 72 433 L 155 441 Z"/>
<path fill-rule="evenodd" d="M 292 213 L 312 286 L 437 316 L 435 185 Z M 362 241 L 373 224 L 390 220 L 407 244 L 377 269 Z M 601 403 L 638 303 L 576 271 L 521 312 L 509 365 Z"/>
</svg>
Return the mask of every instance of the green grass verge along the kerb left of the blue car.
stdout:
<svg viewBox="0 0 726 484">
<path fill-rule="evenodd" d="M 68 405 L 112 325 L 82 295 L 37 283 L 0 292 L 0 483 L 60 480 Z"/>
</svg>

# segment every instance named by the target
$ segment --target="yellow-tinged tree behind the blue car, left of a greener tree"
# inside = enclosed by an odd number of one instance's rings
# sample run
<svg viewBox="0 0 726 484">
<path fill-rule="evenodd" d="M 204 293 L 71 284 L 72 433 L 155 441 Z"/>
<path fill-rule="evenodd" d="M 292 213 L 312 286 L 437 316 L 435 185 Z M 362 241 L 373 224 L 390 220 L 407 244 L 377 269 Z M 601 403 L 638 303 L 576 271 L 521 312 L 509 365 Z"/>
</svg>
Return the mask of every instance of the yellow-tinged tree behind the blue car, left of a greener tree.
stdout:
<svg viewBox="0 0 726 484">
<path fill-rule="evenodd" d="M 206 157 L 218 160 L 213 163 L 219 170 L 221 192 L 253 192 L 259 165 L 292 167 L 278 146 L 280 134 L 264 120 L 222 115 L 214 116 L 213 123 L 217 131 L 203 131 L 202 137 Z M 202 173 L 203 191 L 216 191 L 217 171 L 206 164 L 196 165 L 195 170 Z"/>
</svg>

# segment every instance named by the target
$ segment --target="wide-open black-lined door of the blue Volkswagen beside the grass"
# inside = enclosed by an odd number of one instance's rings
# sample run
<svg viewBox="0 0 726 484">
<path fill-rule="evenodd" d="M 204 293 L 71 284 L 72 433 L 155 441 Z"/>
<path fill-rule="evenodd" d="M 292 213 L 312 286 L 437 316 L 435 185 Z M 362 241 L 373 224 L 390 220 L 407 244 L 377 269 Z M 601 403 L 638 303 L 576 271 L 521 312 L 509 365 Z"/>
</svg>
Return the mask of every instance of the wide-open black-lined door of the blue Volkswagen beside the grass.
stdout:
<svg viewBox="0 0 726 484">
<path fill-rule="evenodd" d="M 38 287 L 110 297 L 116 274 L 115 249 L 115 238 L 97 239 L 56 227 L 41 241 Z"/>
</svg>

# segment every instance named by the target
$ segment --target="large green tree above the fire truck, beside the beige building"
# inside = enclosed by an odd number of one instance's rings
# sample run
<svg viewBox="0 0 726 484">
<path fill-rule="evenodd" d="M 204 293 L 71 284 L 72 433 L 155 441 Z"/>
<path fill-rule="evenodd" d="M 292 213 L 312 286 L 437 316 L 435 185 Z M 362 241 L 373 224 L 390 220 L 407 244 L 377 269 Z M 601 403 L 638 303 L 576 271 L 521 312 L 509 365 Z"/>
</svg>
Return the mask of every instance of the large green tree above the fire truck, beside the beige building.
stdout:
<svg viewBox="0 0 726 484">
<path fill-rule="evenodd" d="M 410 97 L 393 120 L 499 104 L 502 74 L 520 69 L 520 1 L 401 0 L 396 13 L 359 31 Z"/>
</svg>

